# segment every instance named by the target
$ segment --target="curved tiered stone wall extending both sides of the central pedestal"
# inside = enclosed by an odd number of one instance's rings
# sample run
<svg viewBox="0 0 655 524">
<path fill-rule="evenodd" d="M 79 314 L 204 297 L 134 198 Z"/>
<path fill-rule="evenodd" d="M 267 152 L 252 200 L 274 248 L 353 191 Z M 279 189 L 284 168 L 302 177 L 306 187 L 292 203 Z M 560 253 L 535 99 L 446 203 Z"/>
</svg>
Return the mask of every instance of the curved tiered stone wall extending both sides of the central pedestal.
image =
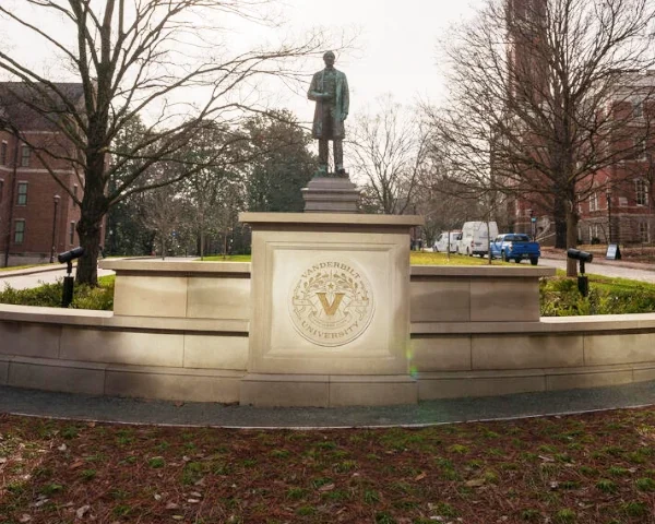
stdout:
<svg viewBox="0 0 655 524">
<path fill-rule="evenodd" d="M 0 383 L 239 402 L 250 265 L 106 261 L 115 312 L 0 305 Z M 655 379 L 655 313 L 539 318 L 533 267 L 415 266 L 408 366 L 419 400 Z"/>
</svg>

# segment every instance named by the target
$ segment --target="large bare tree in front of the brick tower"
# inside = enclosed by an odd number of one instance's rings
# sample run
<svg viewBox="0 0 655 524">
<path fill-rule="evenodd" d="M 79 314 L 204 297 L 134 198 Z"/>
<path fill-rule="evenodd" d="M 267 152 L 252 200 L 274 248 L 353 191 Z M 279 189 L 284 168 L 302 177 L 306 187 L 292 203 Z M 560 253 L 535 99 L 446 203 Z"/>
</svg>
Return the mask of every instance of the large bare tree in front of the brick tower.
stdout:
<svg viewBox="0 0 655 524">
<path fill-rule="evenodd" d="M 574 247 L 577 199 L 648 135 L 627 141 L 620 108 L 627 72 L 655 63 L 654 20 L 652 0 L 487 0 L 442 45 L 451 95 L 432 115 L 462 180 L 535 202 Z"/>
</svg>

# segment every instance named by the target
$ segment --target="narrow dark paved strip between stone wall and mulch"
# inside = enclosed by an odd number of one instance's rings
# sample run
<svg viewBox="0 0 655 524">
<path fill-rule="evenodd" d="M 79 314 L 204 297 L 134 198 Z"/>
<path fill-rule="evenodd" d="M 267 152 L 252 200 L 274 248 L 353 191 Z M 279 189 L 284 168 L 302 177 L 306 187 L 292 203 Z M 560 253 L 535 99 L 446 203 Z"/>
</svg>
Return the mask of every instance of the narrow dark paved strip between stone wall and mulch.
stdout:
<svg viewBox="0 0 655 524">
<path fill-rule="evenodd" d="M 422 427 L 655 404 L 655 381 L 591 390 L 452 398 L 414 406 L 255 408 L 88 396 L 0 386 L 0 413 L 76 420 L 224 428 Z"/>
</svg>

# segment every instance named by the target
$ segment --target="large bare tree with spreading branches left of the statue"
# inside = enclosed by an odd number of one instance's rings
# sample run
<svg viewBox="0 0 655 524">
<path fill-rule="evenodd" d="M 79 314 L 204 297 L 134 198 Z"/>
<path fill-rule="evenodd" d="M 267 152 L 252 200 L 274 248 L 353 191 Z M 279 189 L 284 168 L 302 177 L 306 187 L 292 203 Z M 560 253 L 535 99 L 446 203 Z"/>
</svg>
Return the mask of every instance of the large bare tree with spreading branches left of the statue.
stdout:
<svg viewBox="0 0 655 524">
<path fill-rule="evenodd" d="M 78 279 L 92 285 L 97 283 L 100 225 L 107 211 L 132 193 L 180 180 L 221 157 L 229 140 L 205 164 L 188 163 L 183 155 L 180 159 L 179 152 L 202 122 L 216 120 L 229 127 L 245 110 L 263 110 L 258 82 L 271 76 L 298 80 L 295 59 L 324 47 L 321 35 L 311 34 L 300 43 L 230 50 L 226 34 L 234 22 L 230 17 L 239 23 L 265 23 L 264 9 L 273 4 L 266 0 L 19 3 L 13 9 L 4 2 L 0 5 L 3 25 L 28 34 L 25 45 L 58 53 L 68 78 L 82 85 L 83 96 L 78 100 L 64 84 L 39 73 L 17 52 L 0 50 L 0 70 L 16 85 L 28 87 L 13 90 L 13 96 L 50 120 L 71 144 L 53 153 L 36 147 L 36 153 L 63 159 L 79 172 L 83 196 L 71 194 L 81 206 L 78 233 L 85 249 Z M 58 23 L 47 24 L 49 16 Z M 130 151 L 114 151 L 117 134 L 139 115 L 147 122 L 143 139 Z M 20 139 L 31 144 L 28 135 L 20 134 Z M 178 162 L 183 168 L 167 170 L 169 179 L 148 182 L 144 174 L 160 162 Z M 127 165 L 132 167 L 126 174 Z M 120 181 L 110 186 L 118 171 Z M 58 179 L 55 169 L 50 174 Z"/>
</svg>

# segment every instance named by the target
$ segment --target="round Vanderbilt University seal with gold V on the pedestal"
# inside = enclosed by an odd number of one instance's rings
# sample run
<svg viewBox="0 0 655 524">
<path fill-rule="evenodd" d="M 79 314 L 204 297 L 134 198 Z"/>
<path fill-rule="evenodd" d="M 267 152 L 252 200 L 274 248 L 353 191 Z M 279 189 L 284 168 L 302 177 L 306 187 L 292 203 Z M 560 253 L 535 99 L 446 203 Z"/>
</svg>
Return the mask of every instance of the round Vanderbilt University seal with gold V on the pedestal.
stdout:
<svg viewBox="0 0 655 524">
<path fill-rule="evenodd" d="M 352 262 L 323 260 L 307 267 L 291 287 L 294 326 L 321 346 L 343 346 L 364 333 L 373 317 L 371 286 Z"/>
</svg>

